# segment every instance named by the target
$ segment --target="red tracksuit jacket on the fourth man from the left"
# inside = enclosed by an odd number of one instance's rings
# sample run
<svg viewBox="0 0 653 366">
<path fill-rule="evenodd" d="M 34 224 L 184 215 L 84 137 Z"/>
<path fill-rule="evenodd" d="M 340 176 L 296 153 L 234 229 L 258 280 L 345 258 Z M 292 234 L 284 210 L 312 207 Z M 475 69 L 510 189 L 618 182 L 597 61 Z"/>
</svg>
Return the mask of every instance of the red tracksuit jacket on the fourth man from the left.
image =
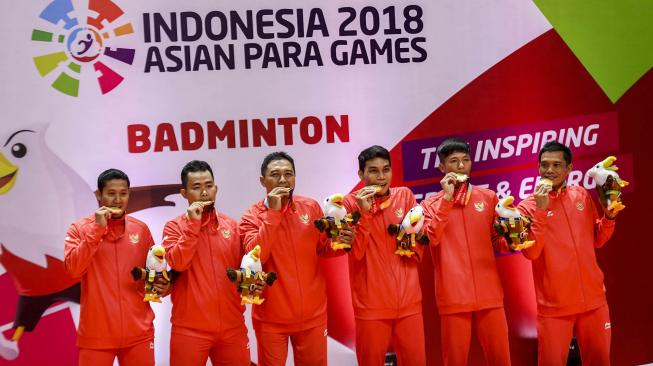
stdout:
<svg viewBox="0 0 653 366">
<path fill-rule="evenodd" d="M 388 226 L 400 224 L 416 205 L 415 196 L 406 187 L 390 188 L 389 200 L 389 206 L 374 215 L 359 209 L 353 193 L 344 201 L 347 212 L 362 214 L 349 253 L 354 315 L 362 320 L 398 319 L 422 312 L 417 261 L 423 247 L 418 244 L 412 258 L 400 257 L 394 254 L 395 237 L 388 234 Z"/>
</svg>

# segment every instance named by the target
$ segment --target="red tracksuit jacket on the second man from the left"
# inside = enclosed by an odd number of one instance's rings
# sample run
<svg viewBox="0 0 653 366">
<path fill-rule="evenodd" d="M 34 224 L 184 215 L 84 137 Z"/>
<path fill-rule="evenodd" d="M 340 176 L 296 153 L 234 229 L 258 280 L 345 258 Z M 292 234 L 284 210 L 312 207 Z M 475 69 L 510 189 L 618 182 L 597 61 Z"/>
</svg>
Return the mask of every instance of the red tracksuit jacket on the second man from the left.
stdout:
<svg viewBox="0 0 653 366">
<path fill-rule="evenodd" d="M 175 332 L 197 336 L 243 326 L 245 307 L 227 278 L 243 256 L 236 221 L 217 212 L 201 221 L 183 214 L 166 223 L 163 245 L 168 264 L 181 272 L 171 295 Z"/>
</svg>

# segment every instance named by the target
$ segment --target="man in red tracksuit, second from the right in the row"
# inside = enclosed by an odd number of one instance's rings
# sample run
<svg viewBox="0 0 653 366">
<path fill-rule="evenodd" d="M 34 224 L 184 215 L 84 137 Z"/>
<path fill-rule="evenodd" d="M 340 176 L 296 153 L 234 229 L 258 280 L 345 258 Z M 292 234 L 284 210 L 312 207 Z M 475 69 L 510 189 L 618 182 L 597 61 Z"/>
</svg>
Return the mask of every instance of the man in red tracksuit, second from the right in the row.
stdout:
<svg viewBox="0 0 653 366">
<path fill-rule="evenodd" d="M 494 229 L 494 192 L 472 186 L 467 142 L 448 139 L 438 147 L 442 191 L 422 201 L 431 240 L 436 301 L 445 365 L 466 365 L 472 334 L 489 365 L 510 365 L 503 289 L 493 247 L 507 251 Z"/>
</svg>

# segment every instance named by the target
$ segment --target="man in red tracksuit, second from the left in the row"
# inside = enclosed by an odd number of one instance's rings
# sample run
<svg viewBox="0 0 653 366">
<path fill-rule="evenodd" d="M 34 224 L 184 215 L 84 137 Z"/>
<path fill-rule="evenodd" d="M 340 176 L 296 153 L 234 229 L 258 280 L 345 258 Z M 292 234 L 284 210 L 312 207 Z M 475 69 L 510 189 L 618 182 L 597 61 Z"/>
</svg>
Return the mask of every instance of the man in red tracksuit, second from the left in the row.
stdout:
<svg viewBox="0 0 653 366">
<path fill-rule="evenodd" d="M 227 268 L 243 256 L 236 221 L 215 210 L 213 170 L 193 160 L 181 171 L 186 212 L 163 230 L 166 259 L 181 275 L 172 288 L 170 365 L 249 366 L 249 341 L 236 286 Z"/>
</svg>

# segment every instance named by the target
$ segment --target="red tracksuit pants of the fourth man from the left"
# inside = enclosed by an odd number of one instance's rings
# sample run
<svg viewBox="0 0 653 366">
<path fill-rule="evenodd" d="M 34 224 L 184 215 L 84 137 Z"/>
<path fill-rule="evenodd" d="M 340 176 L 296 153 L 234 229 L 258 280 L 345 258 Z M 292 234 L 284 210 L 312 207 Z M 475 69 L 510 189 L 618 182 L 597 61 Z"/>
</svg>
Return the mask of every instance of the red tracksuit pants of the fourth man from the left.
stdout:
<svg viewBox="0 0 653 366">
<path fill-rule="evenodd" d="M 397 354 L 399 365 L 426 365 L 422 314 L 401 319 L 356 319 L 356 358 L 359 365 L 383 365 L 390 344 Z"/>
</svg>

